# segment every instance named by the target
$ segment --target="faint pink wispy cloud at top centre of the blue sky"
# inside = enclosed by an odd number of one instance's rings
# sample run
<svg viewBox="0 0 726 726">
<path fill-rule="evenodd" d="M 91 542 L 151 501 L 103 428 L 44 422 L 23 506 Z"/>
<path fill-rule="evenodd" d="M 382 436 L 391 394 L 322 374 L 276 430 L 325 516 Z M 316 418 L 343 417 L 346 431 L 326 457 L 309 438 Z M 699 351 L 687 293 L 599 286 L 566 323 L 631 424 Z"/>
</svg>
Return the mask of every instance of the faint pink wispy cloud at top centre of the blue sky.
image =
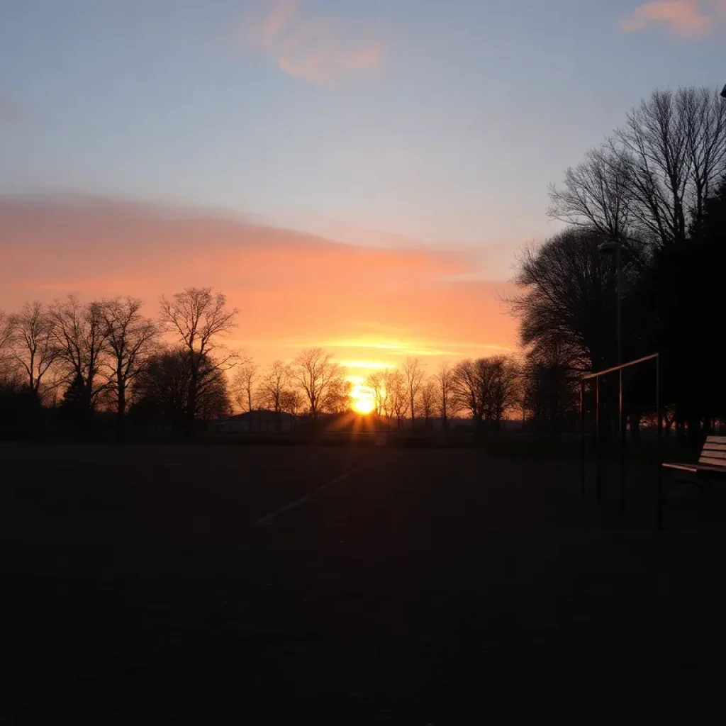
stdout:
<svg viewBox="0 0 726 726">
<path fill-rule="evenodd" d="M 314 17 L 301 0 L 267 0 L 245 29 L 247 40 L 281 70 L 311 83 L 335 83 L 383 63 L 378 38 L 338 18 Z"/>
</svg>

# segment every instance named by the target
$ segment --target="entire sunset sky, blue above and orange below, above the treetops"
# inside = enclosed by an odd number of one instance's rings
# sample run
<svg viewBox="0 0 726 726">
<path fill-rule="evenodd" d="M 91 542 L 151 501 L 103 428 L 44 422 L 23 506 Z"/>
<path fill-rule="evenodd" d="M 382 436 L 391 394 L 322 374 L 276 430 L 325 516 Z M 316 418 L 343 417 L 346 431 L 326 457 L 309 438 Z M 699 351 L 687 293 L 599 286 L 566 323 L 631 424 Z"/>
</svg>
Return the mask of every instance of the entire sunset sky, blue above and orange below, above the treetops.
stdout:
<svg viewBox="0 0 726 726">
<path fill-rule="evenodd" d="M 212 285 L 260 362 L 517 346 L 547 184 L 726 0 L 2 0 L 0 309 Z"/>
</svg>

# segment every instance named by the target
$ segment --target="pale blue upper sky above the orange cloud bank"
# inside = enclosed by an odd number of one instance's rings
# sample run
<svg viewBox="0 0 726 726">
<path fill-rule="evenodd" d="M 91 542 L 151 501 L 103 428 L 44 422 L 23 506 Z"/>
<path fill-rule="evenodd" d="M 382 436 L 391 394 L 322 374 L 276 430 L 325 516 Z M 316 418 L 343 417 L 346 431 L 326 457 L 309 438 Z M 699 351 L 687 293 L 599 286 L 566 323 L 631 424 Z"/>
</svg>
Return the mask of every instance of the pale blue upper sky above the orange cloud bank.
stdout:
<svg viewBox="0 0 726 726">
<path fill-rule="evenodd" d="M 726 81 L 721 0 L 3 0 L 0 192 L 343 239 L 555 227 L 547 184 L 656 87 Z"/>
</svg>

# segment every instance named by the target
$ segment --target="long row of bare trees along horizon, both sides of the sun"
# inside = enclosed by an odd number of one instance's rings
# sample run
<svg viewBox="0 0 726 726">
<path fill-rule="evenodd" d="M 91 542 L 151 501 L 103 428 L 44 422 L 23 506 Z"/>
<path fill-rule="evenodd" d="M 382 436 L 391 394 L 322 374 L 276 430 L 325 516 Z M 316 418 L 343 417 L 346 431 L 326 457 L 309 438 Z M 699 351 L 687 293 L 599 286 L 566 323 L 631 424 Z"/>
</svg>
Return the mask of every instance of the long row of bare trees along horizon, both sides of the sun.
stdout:
<svg viewBox="0 0 726 726">
<path fill-rule="evenodd" d="M 156 319 L 138 298 L 83 303 L 68 295 L 0 314 L 0 424 L 27 433 L 51 411 L 60 428 L 83 433 L 99 414 L 123 435 L 163 425 L 192 433 L 234 410 L 308 415 L 354 408 L 346 369 L 322 348 L 261 367 L 226 338 L 239 311 L 211 287 L 162 297 Z M 402 428 L 446 430 L 454 417 L 496 428 L 523 403 L 523 371 L 512 356 L 444 362 L 427 375 L 418 358 L 365 381 L 373 413 Z M 404 424 L 404 422 L 407 422 Z M 410 423 L 409 423 L 410 422 Z"/>
</svg>

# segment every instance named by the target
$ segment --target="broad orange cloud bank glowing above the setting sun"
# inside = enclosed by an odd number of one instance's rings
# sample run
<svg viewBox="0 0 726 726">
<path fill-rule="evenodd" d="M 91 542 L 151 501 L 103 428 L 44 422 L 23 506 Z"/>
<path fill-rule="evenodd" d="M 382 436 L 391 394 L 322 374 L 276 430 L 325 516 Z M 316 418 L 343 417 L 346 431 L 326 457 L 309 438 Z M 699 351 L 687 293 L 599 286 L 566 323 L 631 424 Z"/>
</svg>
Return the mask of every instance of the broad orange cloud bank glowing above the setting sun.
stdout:
<svg viewBox="0 0 726 726">
<path fill-rule="evenodd" d="M 0 196 L 0 309 L 213 285 L 242 311 L 232 345 L 260 362 L 323 346 L 353 369 L 486 355 L 515 342 L 505 282 L 450 282 L 473 264 L 431 247 L 367 248 L 132 200 Z M 355 365 L 354 365 L 355 362 Z"/>
</svg>

